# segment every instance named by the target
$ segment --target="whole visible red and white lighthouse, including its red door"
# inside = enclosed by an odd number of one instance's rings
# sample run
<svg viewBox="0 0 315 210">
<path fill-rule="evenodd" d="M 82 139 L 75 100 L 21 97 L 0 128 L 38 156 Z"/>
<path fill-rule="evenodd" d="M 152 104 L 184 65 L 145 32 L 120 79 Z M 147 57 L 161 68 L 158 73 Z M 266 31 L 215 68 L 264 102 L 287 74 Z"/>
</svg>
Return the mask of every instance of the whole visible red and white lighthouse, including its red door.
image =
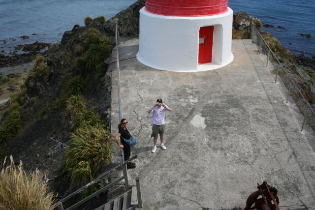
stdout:
<svg viewBox="0 0 315 210">
<path fill-rule="evenodd" d="M 146 0 L 137 59 L 168 71 L 221 68 L 233 60 L 232 22 L 227 0 Z"/>
</svg>

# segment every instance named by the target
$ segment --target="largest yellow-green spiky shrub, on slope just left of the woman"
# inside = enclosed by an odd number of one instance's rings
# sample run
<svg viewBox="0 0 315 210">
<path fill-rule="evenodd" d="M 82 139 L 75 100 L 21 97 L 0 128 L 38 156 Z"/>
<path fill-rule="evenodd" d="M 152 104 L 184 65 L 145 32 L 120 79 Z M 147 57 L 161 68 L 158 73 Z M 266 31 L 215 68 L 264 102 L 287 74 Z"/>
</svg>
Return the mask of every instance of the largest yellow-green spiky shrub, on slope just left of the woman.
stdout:
<svg viewBox="0 0 315 210">
<path fill-rule="evenodd" d="M 101 124 L 79 128 L 71 134 L 71 143 L 65 150 L 64 171 L 79 187 L 94 180 L 99 169 L 109 164 L 111 134 Z"/>
</svg>

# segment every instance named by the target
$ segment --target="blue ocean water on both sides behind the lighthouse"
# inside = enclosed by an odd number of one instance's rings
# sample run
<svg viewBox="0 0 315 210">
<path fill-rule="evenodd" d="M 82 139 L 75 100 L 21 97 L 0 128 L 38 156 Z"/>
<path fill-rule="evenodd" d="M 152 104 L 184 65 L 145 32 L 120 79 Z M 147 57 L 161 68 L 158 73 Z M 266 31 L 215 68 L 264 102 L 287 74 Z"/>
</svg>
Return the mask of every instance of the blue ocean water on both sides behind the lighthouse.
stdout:
<svg viewBox="0 0 315 210">
<path fill-rule="evenodd" d="M 75 24 L 84 26 L 86 16 L 109 19 L 133 2 L 135 0 L 0 0 L 0 51 L 8 54 L 17 44 L 60 41 L 65 30 L 71 30 Z M 276 36 L 292 54 L 315 55 L 315 38 L 299 35 L 315 36 L 315 0 L 229 0 L 229 7 L 234 12 L 244 10 L 263 23 L 275 26 L 264 30 Z M 30 38 L 23 40 L 22 35 Z"/>
</svg>

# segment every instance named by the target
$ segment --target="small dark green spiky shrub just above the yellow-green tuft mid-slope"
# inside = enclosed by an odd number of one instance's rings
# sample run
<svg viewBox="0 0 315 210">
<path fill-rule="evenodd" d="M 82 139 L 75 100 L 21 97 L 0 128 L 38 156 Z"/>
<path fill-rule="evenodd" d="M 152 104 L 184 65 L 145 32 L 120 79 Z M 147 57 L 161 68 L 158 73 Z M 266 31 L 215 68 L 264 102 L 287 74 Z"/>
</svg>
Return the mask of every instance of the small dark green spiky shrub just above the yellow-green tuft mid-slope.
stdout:
<svg viewBox="0 0 315 210">
<path fill-rule="evenodd" d="M 63 94 L 68 95 L 82 95 L 85 88 L 85 82 L 82 78 L 82 76 L 77 75 L 72 78 L 70 76 L 67 76 L 67 78 L 64 78 L 63 83 Z"/>
</svg>

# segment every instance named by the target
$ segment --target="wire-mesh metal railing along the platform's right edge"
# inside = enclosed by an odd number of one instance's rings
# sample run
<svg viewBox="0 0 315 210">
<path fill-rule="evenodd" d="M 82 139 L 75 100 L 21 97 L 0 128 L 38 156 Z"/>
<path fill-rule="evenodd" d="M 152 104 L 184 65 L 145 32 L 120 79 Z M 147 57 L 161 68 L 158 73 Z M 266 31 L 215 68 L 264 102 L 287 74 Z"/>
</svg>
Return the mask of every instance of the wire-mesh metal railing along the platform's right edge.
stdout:
<svg viewBox="0 0 315 210">
<path fill-rule="evenodd" d="M 286 90 L 287 96 L 285 103 L 288 102 L 289 96 L 294 100 L 300 112 L 303 115 L 301 122 L 301 131 L 303 131 L 305 123 L 315 130 L 315 111 L 305 98 L 306 93 L 296 84 L 296 75 L 290 73 L 290 71 L 280 62 L 275 53 L 271 50 L 265 39 L 260 32 L 256 29 L 252 23 L 251 39 L 253 43 L 258 47 L 259 54 L 264 54 L 266 57 L 262 57 L 266 62 L 266 67 L 269 67 L 275 83 L 281 78 Z M 296 68 L 296 67 L 294 67 Z M 297 71 L 297 70 L 296 70 Z M 298 72 L 298 71 L 297 71 Z"/>
</svg>

